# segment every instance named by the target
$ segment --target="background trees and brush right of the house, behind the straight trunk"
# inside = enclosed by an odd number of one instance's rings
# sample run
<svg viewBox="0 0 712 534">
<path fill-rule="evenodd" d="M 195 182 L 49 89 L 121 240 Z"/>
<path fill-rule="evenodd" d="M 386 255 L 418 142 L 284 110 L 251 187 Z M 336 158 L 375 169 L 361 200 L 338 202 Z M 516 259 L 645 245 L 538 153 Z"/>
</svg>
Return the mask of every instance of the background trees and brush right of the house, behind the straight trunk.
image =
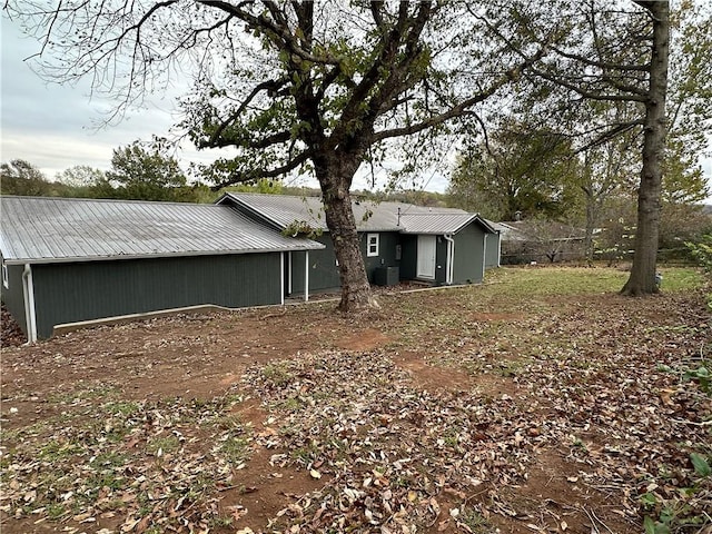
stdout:
<svg viewBox="0 0 712 534">
<path fill-rule="evenodd" d="M 673 130 L 674 135 L 674 130 Z M 576 150 L 537 123 L 503 121 L 463 149 L 452 171 L 448 205 L 495 221 L 556 221 L 581 228 L 589 259 L 630 259 L 636 233 L 635 139 Z M 712 231 L 710 188 L 696 158 L 673 142 L 664 160 L 659 249 L 662 260 L 689 258 L 685 243 Z M 540 236 L 545 240 L 546 236 Z"/>
</svg>

